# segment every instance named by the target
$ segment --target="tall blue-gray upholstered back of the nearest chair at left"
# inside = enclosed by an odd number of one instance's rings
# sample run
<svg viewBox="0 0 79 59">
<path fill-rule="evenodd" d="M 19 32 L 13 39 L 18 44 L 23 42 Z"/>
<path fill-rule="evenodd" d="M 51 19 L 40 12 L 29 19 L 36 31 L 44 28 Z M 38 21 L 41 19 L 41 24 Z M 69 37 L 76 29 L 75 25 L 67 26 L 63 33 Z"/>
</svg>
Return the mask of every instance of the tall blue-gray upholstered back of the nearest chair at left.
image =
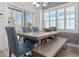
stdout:
<svg viewBox="0 0 79 59">
<path fill-rule="evenodd" d="M 17 55 L 19 52 L 19 42 L 16 31 L 14 27 L 5 27 L 5 30 L 8 37 L 9 50 L 11 53 Z"/>
</svg>

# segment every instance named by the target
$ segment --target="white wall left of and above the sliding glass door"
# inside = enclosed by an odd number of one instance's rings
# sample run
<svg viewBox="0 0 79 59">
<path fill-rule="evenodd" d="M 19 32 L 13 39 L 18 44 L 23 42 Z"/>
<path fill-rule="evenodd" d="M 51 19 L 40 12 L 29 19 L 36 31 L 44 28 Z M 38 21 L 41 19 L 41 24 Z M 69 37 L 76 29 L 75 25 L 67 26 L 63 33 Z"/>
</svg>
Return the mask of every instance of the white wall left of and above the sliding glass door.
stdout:
<svg viewBox="0 0 79 59">
<path fill-rule="evenodd" d="M 11 4 L 11 5 L 14 5 L 16 7 L 19 7 L 19 8 L 22 8 L 24 10 L 28 10 L 28 11 L 31 11 L 34 13 L 34 19 L 33 19 L 33 23 L 35 26 L 36 25 L 36 19 L 35 19 L 35 8 L 34 6 L 32 5 L 31 2 L 28 2 L 28 3 L 7 3 L 7 2 L 4 2 L 4 3 L 1 3 L 0 2 L 0 12 L 3 13 L 3 18 L 2 20 L 0 20 L 0 50 L 3 50 L 5 48 L 8 48 L 8 40 L 7 40 L 7 35 L 6 35 L 6 32 L 5 32 L 5 26 L 8 26 L 8 6 L 7 4 Z M 2 27 L 1 27 L 2 26 Z"/>
</svg>

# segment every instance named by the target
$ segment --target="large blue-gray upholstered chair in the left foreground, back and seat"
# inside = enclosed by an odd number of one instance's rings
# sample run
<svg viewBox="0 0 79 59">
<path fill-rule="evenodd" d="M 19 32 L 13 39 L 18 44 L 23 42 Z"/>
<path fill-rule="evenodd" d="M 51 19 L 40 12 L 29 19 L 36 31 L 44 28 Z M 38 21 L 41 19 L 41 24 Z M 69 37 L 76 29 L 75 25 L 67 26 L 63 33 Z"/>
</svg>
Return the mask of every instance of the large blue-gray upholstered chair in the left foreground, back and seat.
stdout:
<svg viewBox="0 0 79 59">
<path fill-rule="evenodd" d="M 17 39 L 16 31 L 13 27 L 5 27 L 8 45 L 9 45 L 9 56 L 13 53 L 16 57 L 26 54 L 29 51 L 32 51 L 34 43 L 30 40 L 27 40 L 25 43 L 19 43 Z"/>
</svg>

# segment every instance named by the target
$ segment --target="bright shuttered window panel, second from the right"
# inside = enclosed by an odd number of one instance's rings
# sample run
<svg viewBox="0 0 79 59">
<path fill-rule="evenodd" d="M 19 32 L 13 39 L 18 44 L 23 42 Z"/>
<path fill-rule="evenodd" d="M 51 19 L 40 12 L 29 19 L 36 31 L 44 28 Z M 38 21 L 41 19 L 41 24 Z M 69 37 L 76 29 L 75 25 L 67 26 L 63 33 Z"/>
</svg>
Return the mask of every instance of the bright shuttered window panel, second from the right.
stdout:
<svg viewBox="0 0 79 59">
<path fill-rule="evenodd" d="M 64 29 L 64 9 L 59 9 L 57 11 L 57 21 L 58 29 Z"/>
</svg>

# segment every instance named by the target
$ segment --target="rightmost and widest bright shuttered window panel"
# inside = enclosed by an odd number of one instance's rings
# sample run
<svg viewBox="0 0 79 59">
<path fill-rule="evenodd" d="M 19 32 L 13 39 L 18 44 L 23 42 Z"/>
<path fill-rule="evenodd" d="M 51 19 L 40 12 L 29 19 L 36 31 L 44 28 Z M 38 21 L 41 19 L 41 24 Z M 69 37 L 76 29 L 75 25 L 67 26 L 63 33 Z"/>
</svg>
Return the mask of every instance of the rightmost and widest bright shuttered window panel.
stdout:
<svg viewBox="0 0 79 59">
<path fill-rule="evenodd" d="M 75 7 L 66 8 L 66 29 L 74 30 L 75 28 Z"/>
</svg>

